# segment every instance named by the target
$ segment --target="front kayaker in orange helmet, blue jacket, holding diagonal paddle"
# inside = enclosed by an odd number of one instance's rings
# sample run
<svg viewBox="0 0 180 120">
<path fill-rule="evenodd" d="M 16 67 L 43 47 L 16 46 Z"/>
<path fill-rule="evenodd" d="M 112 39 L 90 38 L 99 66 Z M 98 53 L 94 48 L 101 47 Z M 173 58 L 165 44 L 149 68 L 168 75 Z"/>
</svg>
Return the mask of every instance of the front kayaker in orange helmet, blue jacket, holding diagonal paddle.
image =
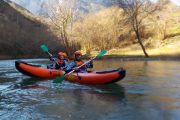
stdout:
<svg viewBox="0 0 180 120">
<path fill-rule="evenodd" d="M 66 72 L 70 72 L 71 70 L 75 70 L 76 72 L 80 73 L 87 73 L 87 68 L 93 68 L 93 62 L 89 62 L 86 65 L 82 66 L 81 68 L 77 69 L 78 66 L 81 66 L 84 64 L 84 61 L 82 61 L 82 53 L 80 51 L 76 51 L 74 53 L 75 59 L 69 63 L 69 65 L 66 68 Z"/>
</svg>

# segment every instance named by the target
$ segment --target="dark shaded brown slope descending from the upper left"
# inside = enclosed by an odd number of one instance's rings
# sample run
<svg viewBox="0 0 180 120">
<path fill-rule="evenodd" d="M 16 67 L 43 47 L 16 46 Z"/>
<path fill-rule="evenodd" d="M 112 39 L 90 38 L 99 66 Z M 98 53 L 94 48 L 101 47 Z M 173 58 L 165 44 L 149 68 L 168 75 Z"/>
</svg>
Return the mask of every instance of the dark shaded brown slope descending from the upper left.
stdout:
<svg viewBox="0 0 180 120">
<path fill-rule="evenodd" d="M 61 46 L 44 23 L 26 13 L 0 0 L 0 58 L 42 56 L 39 48 L 42 43 L 52 49 Z"/>
</svg>

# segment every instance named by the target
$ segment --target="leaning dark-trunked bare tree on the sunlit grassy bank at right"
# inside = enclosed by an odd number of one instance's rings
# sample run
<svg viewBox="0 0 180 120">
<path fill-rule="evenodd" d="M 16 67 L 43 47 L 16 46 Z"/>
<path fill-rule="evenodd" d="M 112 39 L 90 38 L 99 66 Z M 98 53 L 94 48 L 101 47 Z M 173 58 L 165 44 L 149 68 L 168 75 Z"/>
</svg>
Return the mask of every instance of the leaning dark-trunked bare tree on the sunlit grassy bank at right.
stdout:
<svg viewBox="0 0 180 120">
<path fill-rule="evenodd" d="M 123 8 L 125 16 L 127 17 L 126 22 L 130 23 L 130 26 L 135 32 L 144 55 L 149 57 L 145 46 L 143 45 L 140 30 L 143 26 L 145 26 L 143 23 L 144 20 L 157 10 L 160 10 L 160 5 L 152 3 L 150 0 L 119 0 L 119 5 Z"/>
</svg>

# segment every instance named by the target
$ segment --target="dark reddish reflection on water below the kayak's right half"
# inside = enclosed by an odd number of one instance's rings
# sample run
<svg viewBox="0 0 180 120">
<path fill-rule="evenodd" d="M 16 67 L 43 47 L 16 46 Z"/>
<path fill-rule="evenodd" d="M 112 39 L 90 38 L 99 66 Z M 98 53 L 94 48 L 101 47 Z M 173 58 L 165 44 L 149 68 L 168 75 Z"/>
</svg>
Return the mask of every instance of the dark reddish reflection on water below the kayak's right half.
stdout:
<svg viewBox="0 0 180 120">
<path fill-rule="evenodd" d="M 82 90 L 76 89 L 73 91 L 73 97 L 79 105 L 89 103 L 113 103 L 113 102 L 123 102 L 125 103 L 125 89 L 119 84 L 109 84 L 109 85 L 98 85 L 89 86 L 91 89 Z"/>
</svg>

